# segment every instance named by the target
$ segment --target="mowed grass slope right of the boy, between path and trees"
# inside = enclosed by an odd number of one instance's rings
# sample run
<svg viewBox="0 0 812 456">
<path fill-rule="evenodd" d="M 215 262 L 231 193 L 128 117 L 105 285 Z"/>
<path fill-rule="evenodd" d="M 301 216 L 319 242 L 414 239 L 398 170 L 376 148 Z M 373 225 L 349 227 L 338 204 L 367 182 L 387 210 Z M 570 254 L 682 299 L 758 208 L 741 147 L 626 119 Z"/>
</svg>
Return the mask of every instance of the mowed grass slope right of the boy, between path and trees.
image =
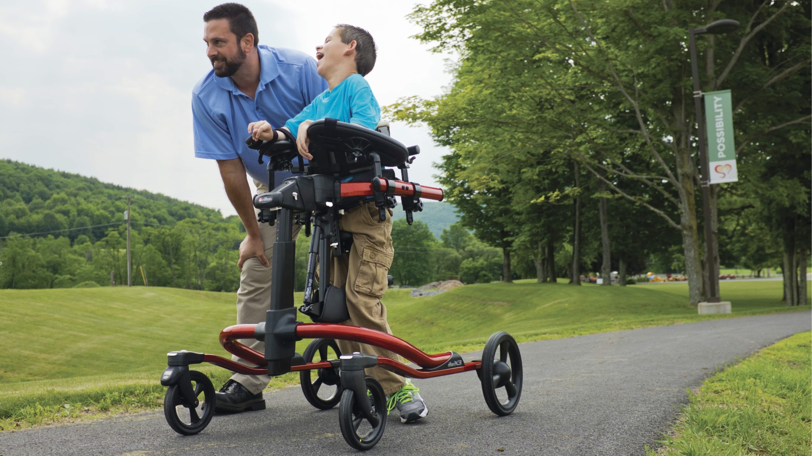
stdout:
<svg viewBox="0 0 812 456">
<path fill-rule="evenodd" d="M 570 286 L 564 283 L 489 283 L 463 286 L 430 298 L 390 290 L 384 302 L 393 332 L 426 351 L 473 351 L 491 333 L 520 342 L 688 321 L 786 312 L 781 282 L 723 282 L 733 313 L 703 315 L 688 301 L 685 283 Z"/>
</svg>

